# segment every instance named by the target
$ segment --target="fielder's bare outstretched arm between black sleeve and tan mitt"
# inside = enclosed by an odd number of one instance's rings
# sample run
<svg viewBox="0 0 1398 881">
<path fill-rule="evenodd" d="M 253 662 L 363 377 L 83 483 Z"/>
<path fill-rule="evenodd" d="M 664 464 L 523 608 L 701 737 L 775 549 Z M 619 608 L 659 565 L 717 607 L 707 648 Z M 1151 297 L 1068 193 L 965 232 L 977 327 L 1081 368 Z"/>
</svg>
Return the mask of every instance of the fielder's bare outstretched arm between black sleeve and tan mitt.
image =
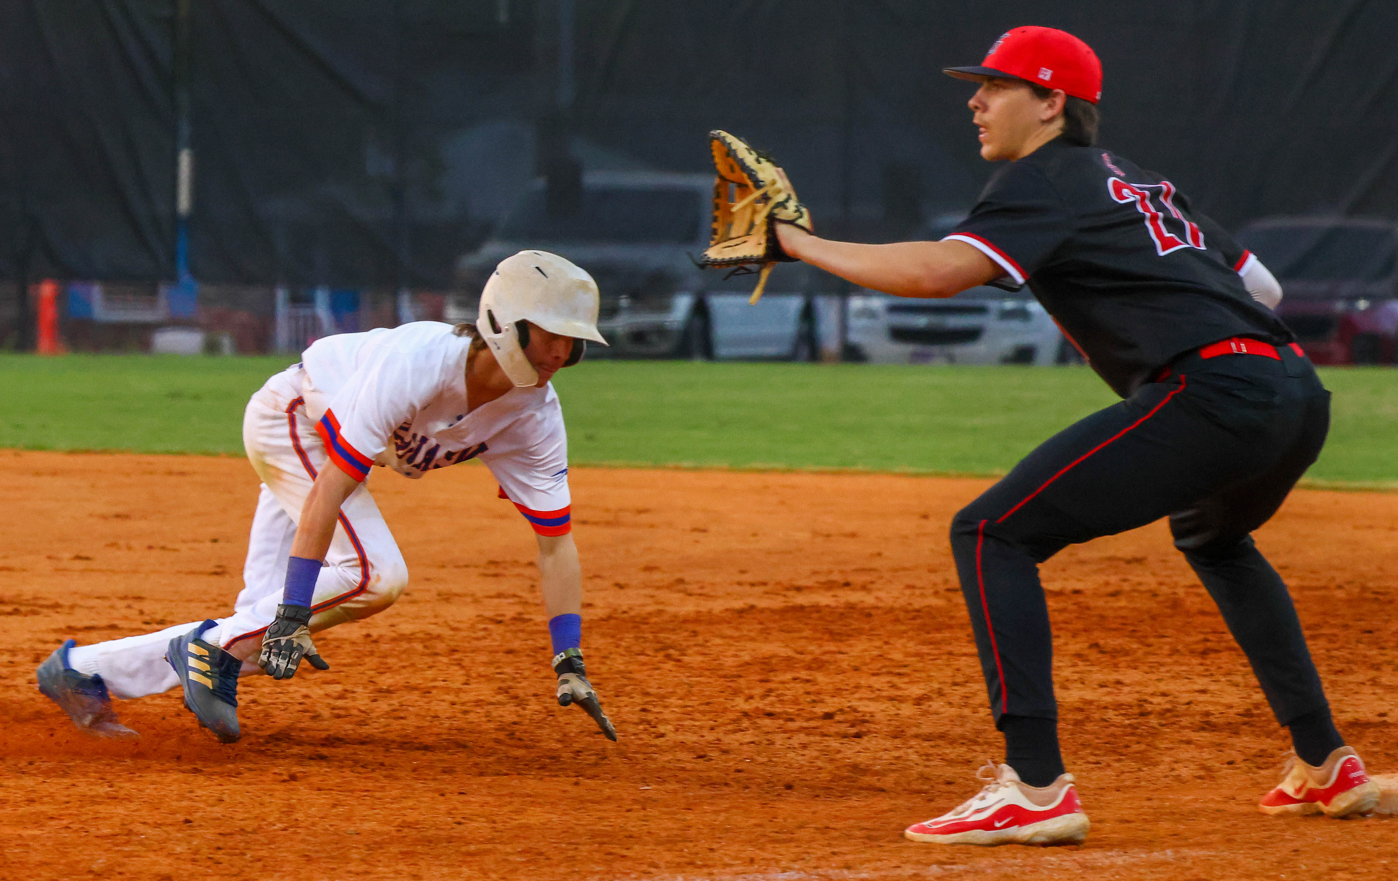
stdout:
<svg viewBox="0 0 1398 881">
<path fill-rule="evenodd" d="M 952 296 L 1005 274 L 965 242 L 860 245 L 822 239 L 791 224 L 776 224 L 776 231 L 787 256 L 895 296 Z"/>
</svg>

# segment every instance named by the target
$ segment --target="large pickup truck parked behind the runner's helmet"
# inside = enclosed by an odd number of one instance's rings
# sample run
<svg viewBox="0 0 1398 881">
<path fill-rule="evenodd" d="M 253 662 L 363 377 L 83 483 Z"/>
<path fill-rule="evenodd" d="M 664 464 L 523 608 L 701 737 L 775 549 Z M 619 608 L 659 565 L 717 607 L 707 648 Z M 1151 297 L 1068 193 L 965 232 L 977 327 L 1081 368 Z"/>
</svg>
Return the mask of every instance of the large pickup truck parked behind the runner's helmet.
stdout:
<svg viewBox="0 0 1398 881">
<path fill-rule="evenodd" d="M 478 291 L 496 263 L 538 248 L 597 280 L 597 327 L 611 345 L 589 357 L 815 358 L 815 295 L 836 280 L 781 266 L 762 301 L 748 306 L 755 277 L 730 278 L 692 260 L 709 245 L 712 200 L 707 175 L 587 172 L 570 206 L 556 204 L 545 180 L 535 180 L 481 249 L 459 262 L 466 289 L 475 294 L 449 301 L 446 320 L 474 320 Z"/>
</svg>

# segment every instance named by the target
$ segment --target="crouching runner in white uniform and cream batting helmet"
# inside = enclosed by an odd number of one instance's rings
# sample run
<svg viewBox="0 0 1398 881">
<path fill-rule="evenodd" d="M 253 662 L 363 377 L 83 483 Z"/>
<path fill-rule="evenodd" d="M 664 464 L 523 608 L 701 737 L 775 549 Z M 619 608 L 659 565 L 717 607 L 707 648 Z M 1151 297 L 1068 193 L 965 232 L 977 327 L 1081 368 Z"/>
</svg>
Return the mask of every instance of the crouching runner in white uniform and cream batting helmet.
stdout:
<svg viewBox="0 0 1398 881">
<path fill-rule="evenodd" d="M 175 687 L 224 743 L 239 738 L 238 677 L 282 680 L 310 635 L 398 599 L 408 569 L 365 478 L 372 466 L 421 478 L 480 459 L 538 540 L 540 586 L 561 705 L 579 703 L 617 740 L 580 652 L 582 569 L 570 534 L 568 436 L 549 378 L 597 331 L 593 278 L 538 250 L 506 259 L 477 324 L 415 322 L 317 340 L 253 394 L 243 445 L 261 478 L 231 614 L 89 646 L 70 639 L 39 666 L 39 689 L 102 737 L 134 737 L 112 696 Z"/>
</svg>

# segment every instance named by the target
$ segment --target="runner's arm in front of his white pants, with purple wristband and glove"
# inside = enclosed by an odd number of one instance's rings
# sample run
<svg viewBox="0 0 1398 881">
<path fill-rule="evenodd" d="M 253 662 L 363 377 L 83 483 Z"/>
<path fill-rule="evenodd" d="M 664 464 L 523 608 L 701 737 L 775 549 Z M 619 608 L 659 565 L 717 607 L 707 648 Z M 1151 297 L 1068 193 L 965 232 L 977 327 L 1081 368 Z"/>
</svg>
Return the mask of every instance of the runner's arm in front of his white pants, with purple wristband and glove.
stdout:
<svg viewBox="0 0 1398 881">
<path fill-rule="evenodd" d="M 273 678 L 296 675 L 302 657 L 316 670 L 330 668 L 310 642 L 310 599 L 316 592 L 320 564 L 336 534 L 340 506 L 358 485 L 354 477 L 327 466 L 316 475 L 301 508 L 296 538 L 291 543 L 291 559 L 287 561 L 287 587 L 257 656 L 257 666 Z"/>
</svg>

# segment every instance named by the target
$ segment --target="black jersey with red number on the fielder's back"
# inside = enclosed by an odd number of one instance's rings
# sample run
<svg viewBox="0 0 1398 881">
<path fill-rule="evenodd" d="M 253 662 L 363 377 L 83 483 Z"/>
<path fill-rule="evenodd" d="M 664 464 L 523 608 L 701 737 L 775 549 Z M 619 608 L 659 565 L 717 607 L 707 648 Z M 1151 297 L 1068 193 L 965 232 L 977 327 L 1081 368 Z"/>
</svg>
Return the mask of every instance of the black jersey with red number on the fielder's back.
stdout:
<svg viewBox="0 0 1398 881">
<path fill-rule="evenodd" d="M 1293 340 L 1243 287 L 1248 255 L 1232 236 L 1169 180 L 1099 147 L 1058 138 L 1007 164 L 946 238 L 1028 284 L 1121 397 L 1201 345 Z"/>
</svg>

